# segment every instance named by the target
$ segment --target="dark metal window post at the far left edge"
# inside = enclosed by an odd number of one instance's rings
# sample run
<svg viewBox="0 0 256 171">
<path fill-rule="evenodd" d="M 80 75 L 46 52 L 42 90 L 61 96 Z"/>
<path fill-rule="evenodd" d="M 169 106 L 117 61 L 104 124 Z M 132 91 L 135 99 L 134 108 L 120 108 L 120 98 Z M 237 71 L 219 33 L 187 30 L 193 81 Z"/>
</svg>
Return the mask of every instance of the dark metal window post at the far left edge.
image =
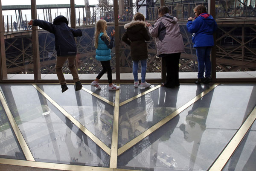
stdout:
<svg viewBox="0 0 256 171">
<path fill-rule="evenodd" d="M 7 79 L 6 53 L 4 44 L 4 26 L 2 17 L 2 2 L 0 0 L 0 81 Z"/>
</svg>

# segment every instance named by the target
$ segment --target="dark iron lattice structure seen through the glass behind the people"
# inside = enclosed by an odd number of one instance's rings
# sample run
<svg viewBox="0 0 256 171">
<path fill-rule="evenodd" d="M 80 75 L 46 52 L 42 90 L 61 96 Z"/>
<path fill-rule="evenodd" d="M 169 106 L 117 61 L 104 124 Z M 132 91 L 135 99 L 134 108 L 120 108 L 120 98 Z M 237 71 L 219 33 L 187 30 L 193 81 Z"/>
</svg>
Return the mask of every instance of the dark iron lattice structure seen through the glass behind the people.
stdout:
<svg viewBox="0 0 256 171">
<path fill-rule="evenodd" d="M 113 26 L 109 26 L 107 32 L 111 32 Z M 180 72 L 197 72 L 198 65 L 195 49 L 191 40 L 191 34 L 186 31 L 186 25 L 180 24 L 183 36 L 185 52 L 180 58 Z M 94 26 L 86 26 L 82 29 L 83 36 L 77 38 L 79 73 L 99 73 L 102 66 L 95 59 Z M 123 26 L 119 26 L 119 39 L 125 32 Z M 6 65 L 8 74 L 33 73 L 32 38 L 30 34 L 5 38 Z M 18 36 L 17 36 L 18 35 Z M 41 61 L 41 73 L 55 73 L 55 45 L 54 35 L 39 31 L 39 50 Z M 118 38 L 118 36 L 116 36 Z M 217 71 L 255 71 L 256 70 L 256 28 L 255 26 L 221 26 L 216 35 L 216 68 Z M 117 46 L 117 45 L 115 45 Z M 120 41 L 120 72 L 131 73 L 132 61 L 130 47 Z M 112 49 L 112 68 L 116 71 L 115 51 Z M 157 58 L 154 39 L 148 41 L 148 67 L 147 72 L 161 72 L 160 58 Z M 64 65 L 64 73 L 70 73 L 67 64 Z"/>
</svg>

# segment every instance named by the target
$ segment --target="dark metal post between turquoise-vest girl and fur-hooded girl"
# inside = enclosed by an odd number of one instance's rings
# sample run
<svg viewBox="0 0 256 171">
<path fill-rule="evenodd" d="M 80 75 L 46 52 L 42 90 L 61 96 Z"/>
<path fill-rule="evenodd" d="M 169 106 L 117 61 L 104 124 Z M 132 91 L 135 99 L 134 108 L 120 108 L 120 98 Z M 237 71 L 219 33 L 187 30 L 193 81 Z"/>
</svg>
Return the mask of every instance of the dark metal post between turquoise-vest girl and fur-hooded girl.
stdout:
<svg viewBox="0 0 256 171">
<path fill-rule="evenodd" d="M 118 0 L 114 0 L 114 25 L 115 25 L 115 52 L 116 52 L 116 82 L 120 82 L 120 49 L 119 49 L 119 26 L 118 26 Z M 122 10 L 122 9 L 120 9 Z"/>
</svg>

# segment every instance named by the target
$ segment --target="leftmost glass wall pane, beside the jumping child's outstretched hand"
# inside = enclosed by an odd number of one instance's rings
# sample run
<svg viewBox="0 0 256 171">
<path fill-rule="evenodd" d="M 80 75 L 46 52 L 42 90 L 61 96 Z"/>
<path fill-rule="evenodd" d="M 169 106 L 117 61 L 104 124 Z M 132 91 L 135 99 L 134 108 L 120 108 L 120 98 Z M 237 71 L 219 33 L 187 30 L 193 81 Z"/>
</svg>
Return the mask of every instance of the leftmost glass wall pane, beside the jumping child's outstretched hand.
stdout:
<svg viewBox="0 0 256 171">
<path fill-rule="evenodd" d="M 7 78 L 33 80 L 32 32 L 27 24 L 31 20 L 30 0 L 2 0 L 2 7 L 5 32 L 11 32 L 5 36 Z"/>
</svg>

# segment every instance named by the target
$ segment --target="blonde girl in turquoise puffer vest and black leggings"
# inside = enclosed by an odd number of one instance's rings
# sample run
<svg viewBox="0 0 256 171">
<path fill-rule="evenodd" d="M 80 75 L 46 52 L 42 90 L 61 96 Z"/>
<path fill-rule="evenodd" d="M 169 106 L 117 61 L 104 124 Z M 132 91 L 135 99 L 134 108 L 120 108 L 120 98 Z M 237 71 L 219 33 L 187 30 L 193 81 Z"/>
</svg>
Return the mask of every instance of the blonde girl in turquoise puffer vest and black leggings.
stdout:
<svg viewBox="0 0 256 171">
<path fill-rule="evenodd" d="M 95 48 L 96 48 L 96 59 L 102 64 L 103 70 L 99 72 L 96 79 L 91 83 L 91 86 L 101 89 L 99 86 L 99 79 L 103 74 L 108 72 L 108 90 L 118 90 L 119 86 L 112 83 L 112 69 L 110 65 L 111 50 L 113 48 L 115 30 L 111 32 L 111 39 L 106 33 L 107 22 L 105 20 L 99 20 L 96 23 L 95 28 Z"/>
</svg>

